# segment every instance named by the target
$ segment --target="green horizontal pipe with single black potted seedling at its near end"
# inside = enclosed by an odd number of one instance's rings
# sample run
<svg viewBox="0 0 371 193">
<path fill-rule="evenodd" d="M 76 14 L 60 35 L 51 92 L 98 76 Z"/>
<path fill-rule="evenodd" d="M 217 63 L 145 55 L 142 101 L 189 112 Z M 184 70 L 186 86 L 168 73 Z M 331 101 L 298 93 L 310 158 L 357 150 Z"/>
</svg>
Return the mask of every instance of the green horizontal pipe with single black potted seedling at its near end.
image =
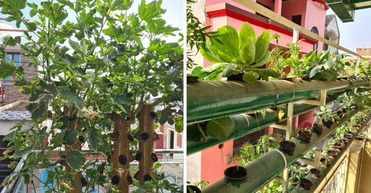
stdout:
<svg viewBox="0 0 371 193">
<path fill-rule="evenodd" d="M 291 141 L 296 144 L 295 152 L 292 156 L 281 151 L 280 148 L 274 149 L 263 156 L 257 158 L 251 163 L 245 165 L 247 170 L 247 179 L 244 181 L 233 181 L 223 178 L 205 188 L 202 193 L 255 193 L 261 187 L 272 181 L 276 176 L 285 170 L 285 168 L 297 159 L 304 156 L 305 152 L 311 150 L 317 143 L 334 132 L 339 126 L 348 121 L 359 112 L 359 108 L 351 112 L 350 116 L 345 116 L 339 124 L 334 124 L 330 129 L 324 127 L 322 135 L 317 135 L 311 131 L 312 138 L 309 144 L 292 138 Z"/>
</svg>

